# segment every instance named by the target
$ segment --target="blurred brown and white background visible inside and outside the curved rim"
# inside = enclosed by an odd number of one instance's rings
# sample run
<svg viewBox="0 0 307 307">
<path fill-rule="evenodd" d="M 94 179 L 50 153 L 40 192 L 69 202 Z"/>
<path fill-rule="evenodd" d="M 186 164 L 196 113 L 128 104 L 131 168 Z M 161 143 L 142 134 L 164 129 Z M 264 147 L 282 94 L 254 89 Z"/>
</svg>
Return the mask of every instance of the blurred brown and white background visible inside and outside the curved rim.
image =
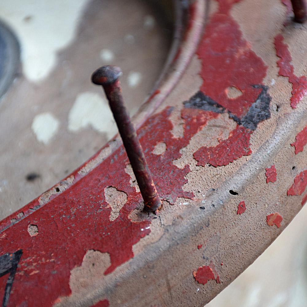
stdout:
<svg viewBox="0 0 307 307">
<path fill-rule="evenodd" d="M 163 2 L 162 2 L 163 3 Z M 117 129 L 91 73 L 122 68 L 131 115 L 167 58 L 171 15 L 146 0 L 0 2 L 0 220 L 66 177 Z M 207 306 L 307 306 L 307 208 Z"/>
</svg>

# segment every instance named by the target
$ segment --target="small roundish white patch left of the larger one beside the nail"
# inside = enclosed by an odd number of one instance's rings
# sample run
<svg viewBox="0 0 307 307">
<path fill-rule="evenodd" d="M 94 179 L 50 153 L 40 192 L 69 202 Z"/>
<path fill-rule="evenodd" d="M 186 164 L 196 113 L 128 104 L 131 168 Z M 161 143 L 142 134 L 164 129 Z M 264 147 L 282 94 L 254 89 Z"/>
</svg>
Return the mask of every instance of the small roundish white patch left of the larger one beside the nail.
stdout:
<svg viewBox="0 0 307 307">
<path fill-rule="evenodd" d="M 47 144 L 59 129 L 60 122 L 48 112 L 38 114 L 32 122 L 32 130 L 37 141 Z"/>
</svg>

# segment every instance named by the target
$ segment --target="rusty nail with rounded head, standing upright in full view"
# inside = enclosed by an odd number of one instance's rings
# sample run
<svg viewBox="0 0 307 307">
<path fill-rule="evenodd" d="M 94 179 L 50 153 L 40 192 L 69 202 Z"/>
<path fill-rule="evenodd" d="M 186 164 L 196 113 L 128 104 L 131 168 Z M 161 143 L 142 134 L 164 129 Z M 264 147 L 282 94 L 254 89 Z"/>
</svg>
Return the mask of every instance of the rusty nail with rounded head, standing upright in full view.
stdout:
<svg viewBox="0 0 307 307">
<path fill-rule="evenodd" d="M 107 65 L 98 68 L 92 74 L 91 80 L 94 84 L 102 85 L 109 100 L 119 134 L 144 200 L 144 210 L 156 211 L 161 206 L 161 200 L 153 183 L 142 146 L 124 105 L 119 81 L 121 74 L 119 67 Z"/>
</svg>

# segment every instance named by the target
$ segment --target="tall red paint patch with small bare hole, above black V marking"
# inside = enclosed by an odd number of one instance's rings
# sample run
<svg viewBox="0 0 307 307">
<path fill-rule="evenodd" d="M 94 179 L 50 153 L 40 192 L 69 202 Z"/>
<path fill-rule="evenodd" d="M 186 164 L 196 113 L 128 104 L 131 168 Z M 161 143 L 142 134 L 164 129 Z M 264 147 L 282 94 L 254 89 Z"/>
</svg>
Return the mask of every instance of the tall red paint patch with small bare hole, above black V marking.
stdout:
<svg viewBox="0 0 307 307">
<path fill-rule="evenodd" d="M 202 60 L 200 75 L 204 79 L 201 91 L 232 114 L 241 118 L 261 92 L 253 84 L 261 84 L 267 67 L 243 38 L 230 10 L 240 0 L 219 0 L 219 8 L 206 26 L 198 55 Z M 228 87 L 236 87 L 242 95 L 227 97 Z"/>
</svg>

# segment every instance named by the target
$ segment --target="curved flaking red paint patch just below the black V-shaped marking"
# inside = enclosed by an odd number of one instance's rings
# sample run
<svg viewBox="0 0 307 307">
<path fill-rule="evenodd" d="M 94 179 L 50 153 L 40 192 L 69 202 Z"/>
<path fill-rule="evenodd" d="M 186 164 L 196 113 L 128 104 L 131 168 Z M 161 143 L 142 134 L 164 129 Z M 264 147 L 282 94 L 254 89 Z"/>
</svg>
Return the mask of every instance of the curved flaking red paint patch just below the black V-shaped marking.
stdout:
<svg viewBox="0 0 307 307">
<path fill-rule="evenodd" d="M 193 156 L 197 165 L 205 166 L 207 163 L 212 166 L 228 165 L 243 156 L 251 154 L 250 137 L 252 131 L 237 126 L 229 134 L 229 138 L 223 140 L 215 147 L 201 147 Z"/>
</svg>

